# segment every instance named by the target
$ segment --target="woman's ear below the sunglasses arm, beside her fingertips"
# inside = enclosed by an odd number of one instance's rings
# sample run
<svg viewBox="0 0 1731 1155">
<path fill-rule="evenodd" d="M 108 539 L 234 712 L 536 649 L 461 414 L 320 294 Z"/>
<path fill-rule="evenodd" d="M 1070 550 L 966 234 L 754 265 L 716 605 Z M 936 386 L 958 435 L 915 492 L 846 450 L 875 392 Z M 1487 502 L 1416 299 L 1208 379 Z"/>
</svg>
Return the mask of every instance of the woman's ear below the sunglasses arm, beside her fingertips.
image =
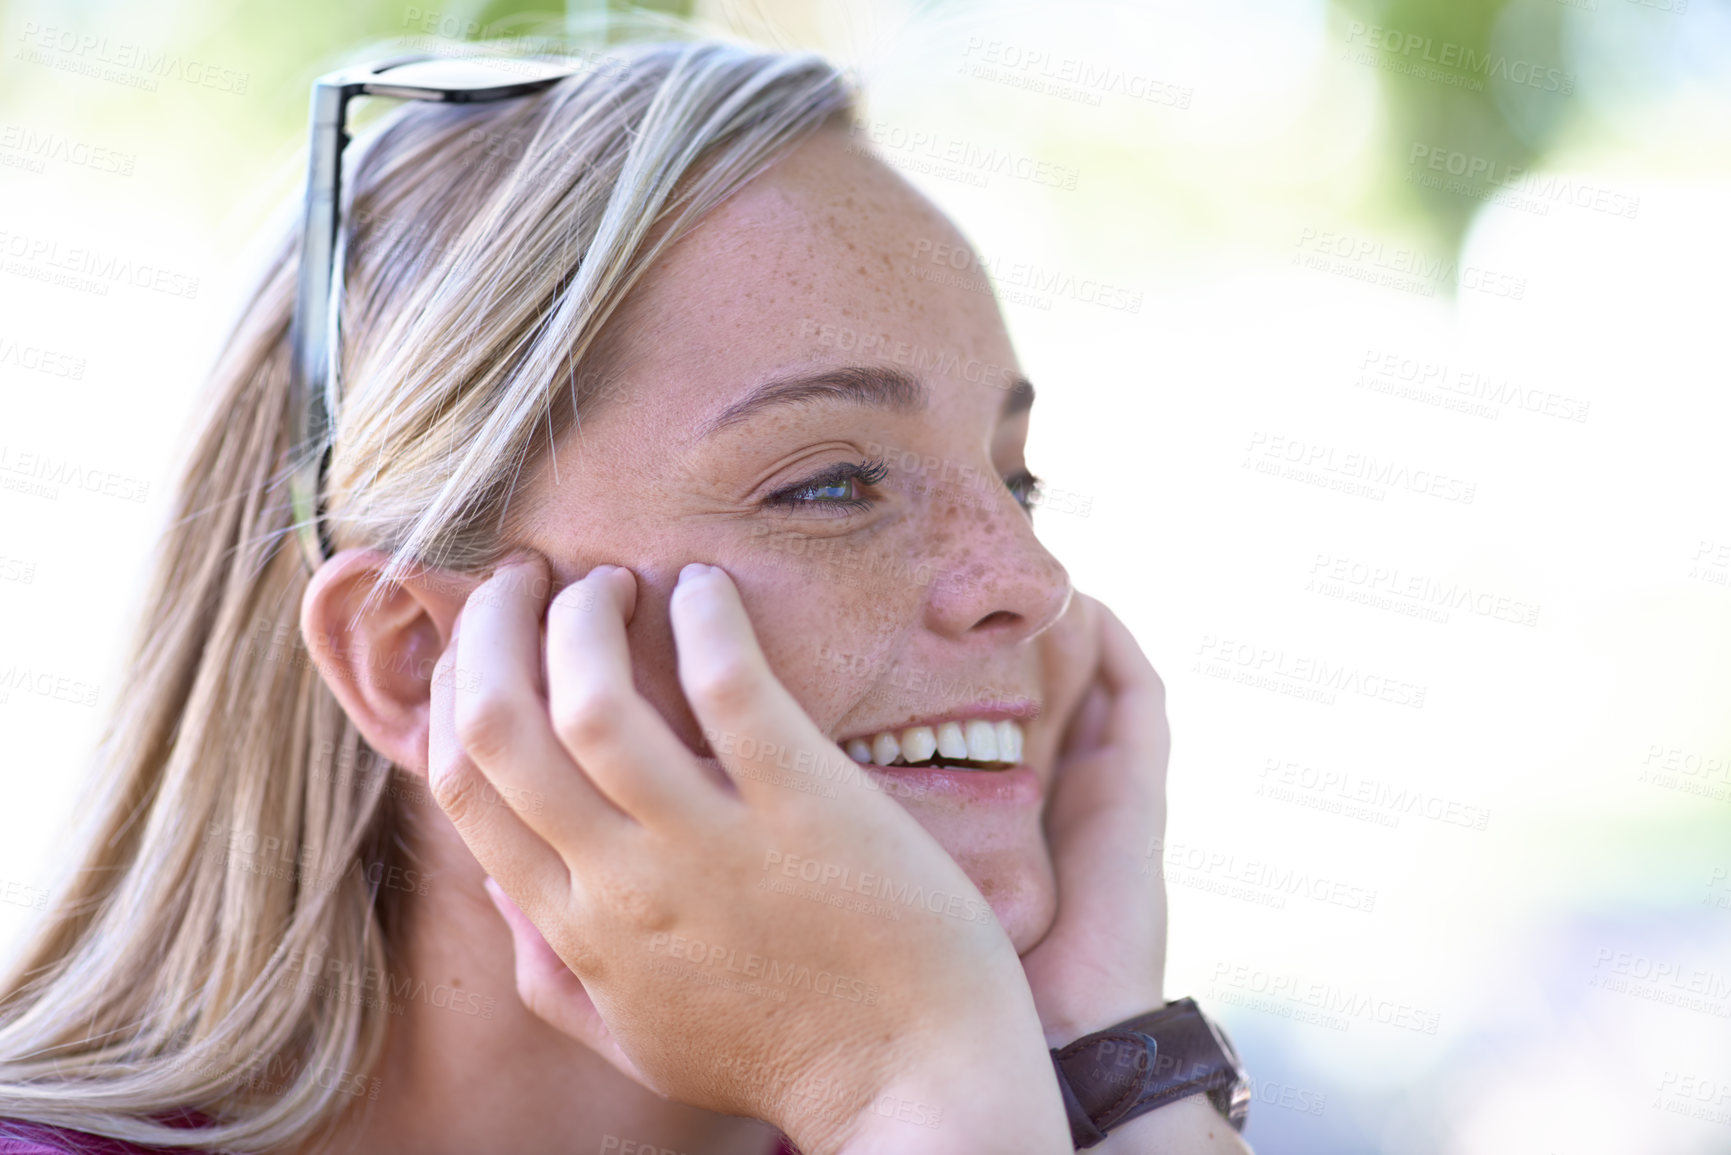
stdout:
<svg viewBox="0 0 1731 1155">
<path fill-rule="evenodd" d="M 419 570 L 383 585 L 389 559 L 377 549 L 344 549 L 319 566 L 301 597 L 301 637 L 367 745 L 426 774 L 433 667 L 483 578 Z"/>
</svg>

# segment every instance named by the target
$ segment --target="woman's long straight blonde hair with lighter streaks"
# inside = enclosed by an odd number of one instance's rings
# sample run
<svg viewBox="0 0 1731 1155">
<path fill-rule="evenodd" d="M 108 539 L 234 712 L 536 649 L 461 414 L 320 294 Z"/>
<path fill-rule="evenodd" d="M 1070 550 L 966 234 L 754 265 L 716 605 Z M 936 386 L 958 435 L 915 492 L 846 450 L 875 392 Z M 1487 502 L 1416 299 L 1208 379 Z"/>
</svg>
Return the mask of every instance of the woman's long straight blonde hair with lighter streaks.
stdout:
<svg viewBox="0 0 1731 1155">
<path fill-rule="evenodd" d="M 350 145 L 336 547 L 388 551 L 389 578 L 497 563 L 519 476 L 608 388 L 595 339 L 625 293 L 850 109 L 817 57 L 660 43 L 533 97 L 407 104 Z M 299 642 L 294 279 L 291 236 L 216 364 L 80 866 L 0 984 L 0 1119 L 267 1152 L 376 1093 L 410 783 Z"/>
</svg>

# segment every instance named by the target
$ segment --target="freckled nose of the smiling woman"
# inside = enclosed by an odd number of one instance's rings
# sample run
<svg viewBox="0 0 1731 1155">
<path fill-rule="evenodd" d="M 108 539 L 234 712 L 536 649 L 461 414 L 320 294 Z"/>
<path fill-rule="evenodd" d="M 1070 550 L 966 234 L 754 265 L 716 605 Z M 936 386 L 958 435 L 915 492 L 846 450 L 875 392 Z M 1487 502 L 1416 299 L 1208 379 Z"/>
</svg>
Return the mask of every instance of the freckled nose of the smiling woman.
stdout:
<svg viewBox="0 0 1731 1155">
<path fill-rule="evenodd" d="M 926 629 L 952 641 L 1021 642 L 1063 616 L 1070 571 L 1007 488 L 952 494 L 933 509 Z"/>
</svg>

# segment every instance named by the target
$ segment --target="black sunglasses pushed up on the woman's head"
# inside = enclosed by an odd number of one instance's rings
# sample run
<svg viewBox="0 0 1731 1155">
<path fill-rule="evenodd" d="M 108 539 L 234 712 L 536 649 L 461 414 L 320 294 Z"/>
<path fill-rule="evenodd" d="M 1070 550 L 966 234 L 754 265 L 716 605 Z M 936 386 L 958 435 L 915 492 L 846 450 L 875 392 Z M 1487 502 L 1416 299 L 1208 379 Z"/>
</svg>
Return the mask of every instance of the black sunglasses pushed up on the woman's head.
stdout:
<svg viewBox="0 0 1731 1155">
<path fill-rule="evenodd" d="M 310 571 L 334 552 L 324 530 L 324 476 L 331 462 L 332 317 L 336 239 L 343 204 L 343 147 L 355 97 L 474 104 L 542 92 L 585 64 L 571 61 L 402 55 L 327 73 L 313 81 L 306 220 L 289 353 L 289 405 L 299 442 L 289 474 L 294 533 Z"/>
</svg>

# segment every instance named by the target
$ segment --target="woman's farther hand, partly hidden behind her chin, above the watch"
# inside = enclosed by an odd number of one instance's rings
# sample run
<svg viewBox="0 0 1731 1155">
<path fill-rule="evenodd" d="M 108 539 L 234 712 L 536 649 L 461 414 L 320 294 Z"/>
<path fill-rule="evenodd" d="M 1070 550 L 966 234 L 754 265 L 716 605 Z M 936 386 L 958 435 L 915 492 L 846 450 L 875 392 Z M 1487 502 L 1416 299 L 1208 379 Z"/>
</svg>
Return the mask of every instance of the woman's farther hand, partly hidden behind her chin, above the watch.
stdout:
<svg viewBox="0 0 1731 1155">
<path fill-rule="evenodd" d="M 1130 630 L 1077 594 L 1059 637 L 1097 667 L 1059 752 L 1046 836 L 1058 918 L 1021 958 L 1049 1046 L 1165 1004 L 1167 890 L 1149 857 L 1167 824 L 1167 693 Z"/>
</svg>

